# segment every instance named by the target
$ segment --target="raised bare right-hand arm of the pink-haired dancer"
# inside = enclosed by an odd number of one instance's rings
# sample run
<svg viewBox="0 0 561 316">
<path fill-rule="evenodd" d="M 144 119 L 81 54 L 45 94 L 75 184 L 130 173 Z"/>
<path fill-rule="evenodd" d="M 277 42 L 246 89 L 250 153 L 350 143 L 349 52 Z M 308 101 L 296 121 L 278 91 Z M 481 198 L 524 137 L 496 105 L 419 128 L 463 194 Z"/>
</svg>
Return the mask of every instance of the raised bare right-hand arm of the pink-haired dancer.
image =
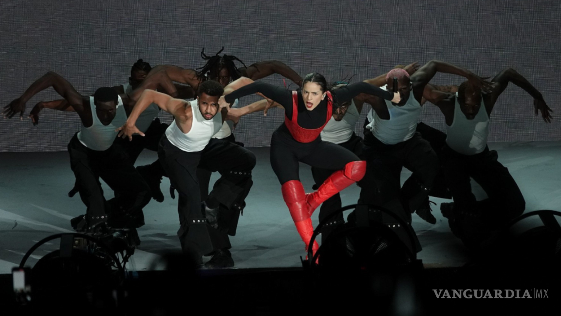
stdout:
<svg viewBox="0 0 561 316">
<path fill-rule="evenodd" d="M 422 66 L 419 70 L 411 76 L 411 82 L 413 83 L 413 89 L 424 89 L 431 79 L 433 79 L 436 73 L 447 73 L 463 76 L 470 80 L 473 85 L 480 87 L 484 91 L 491 90 L 491 83 L 486 82 L 480 76 L 473 74 L 471 71 L 467 71 L 458 66 L 448 64 L 447 62 L 431 60 Z M 422 92 L 422 91 L 421 91 Z"/>
</svg>

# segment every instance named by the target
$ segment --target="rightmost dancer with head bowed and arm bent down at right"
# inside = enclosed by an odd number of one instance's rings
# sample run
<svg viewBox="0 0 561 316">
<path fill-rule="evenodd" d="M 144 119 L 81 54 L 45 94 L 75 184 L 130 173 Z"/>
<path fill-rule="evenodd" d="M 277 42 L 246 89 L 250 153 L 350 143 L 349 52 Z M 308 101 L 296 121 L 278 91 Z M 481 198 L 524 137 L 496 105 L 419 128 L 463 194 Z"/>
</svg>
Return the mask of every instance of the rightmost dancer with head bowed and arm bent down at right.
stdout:
<svg viewBox="0 0 561 316">
<path fill-rule="evenodd" d="M 541 93 L 511 68 L 491 80 L 490 93 L 471 82 L 459 85 L 456 93 L 425 93 L 444 114 L 447 127 L 443 165 L 454 203 L 443 203 L 441 210 L 452 231 L 470 249 L 479 248 L 490 231 L 498 230 L 525 210 L 524 197 L 512 175 L 497 161 L 497 152 L 487 145 L 491 111 L 509 82 L 530 94 L 535 115 L 540 111 L 542 119 L 551 123 L 551 109 Z M 476 201 L 470 177 L 480 184 L 488 198 Z"/>
</svg>

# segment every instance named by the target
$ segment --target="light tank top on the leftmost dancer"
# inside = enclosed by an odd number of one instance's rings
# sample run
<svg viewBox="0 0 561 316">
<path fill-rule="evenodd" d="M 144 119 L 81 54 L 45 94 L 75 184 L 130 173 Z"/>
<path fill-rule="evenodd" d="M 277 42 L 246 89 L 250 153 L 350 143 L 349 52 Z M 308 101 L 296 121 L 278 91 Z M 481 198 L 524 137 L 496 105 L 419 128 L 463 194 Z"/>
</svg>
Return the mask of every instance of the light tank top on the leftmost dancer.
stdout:
<svg viewBox="0 0 561 316">
<path fill-rule="evenodd" d="M 90 127 L 85 127 L 84 123 L 82 123 L 82 128 L 80 132 L 78 132 L 78 140 L 82 145 L 91 150 L 107 150 L 113 144 L 115 137 L 117 137 L 118 132 L 115 132 L 115 130 L 122 127 L 127 121 L 127 113 L 123 106 L 123 100 L 121 100 L 121 96 L 119 96 L 115 117 L 107 126 L 99 121 L 98 115 L 95 112 L 94 97 L 90 97 L 90 108 L 93 124 L 91 124 Z"/>
</svg>

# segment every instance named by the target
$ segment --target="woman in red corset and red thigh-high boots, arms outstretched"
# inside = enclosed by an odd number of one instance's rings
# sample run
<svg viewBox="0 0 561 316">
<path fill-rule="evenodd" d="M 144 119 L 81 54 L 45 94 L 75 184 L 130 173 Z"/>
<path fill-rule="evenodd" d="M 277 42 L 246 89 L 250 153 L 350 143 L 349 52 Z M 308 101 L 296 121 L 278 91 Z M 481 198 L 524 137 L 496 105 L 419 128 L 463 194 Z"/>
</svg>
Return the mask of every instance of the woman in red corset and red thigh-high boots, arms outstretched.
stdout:
<svg viewBox="0 0 561 316">
<path fill-rule="evenodd" d="M 290 91 L 274 85 L 255 82 L 220 98 L 221 106 L 232 104 L 237 98 L 252 93 L 262 93 L 285 109 L 284 123 L 273 133 L 271 140 L 271 165 L 282 184 L 282 194 L 296 229 L 309 246 L 314 231 L 311 214 L 329 197 L 357 182 L 364 176 L 364 161 L 333 143 L 323 142 L 321 130 L 342 102 L 360 93 L 374 94 L 399 102 L 398 93 L 390 93 L 367 83 L 350 84 L 329 91 L 323 75 L 306 75 L 302 88 Z M 298 175 L 298 162 L 335 171 L 317 191 L 306 195 Z M 314 252 L 319 248 L 314 242 Z"/>
</svg>

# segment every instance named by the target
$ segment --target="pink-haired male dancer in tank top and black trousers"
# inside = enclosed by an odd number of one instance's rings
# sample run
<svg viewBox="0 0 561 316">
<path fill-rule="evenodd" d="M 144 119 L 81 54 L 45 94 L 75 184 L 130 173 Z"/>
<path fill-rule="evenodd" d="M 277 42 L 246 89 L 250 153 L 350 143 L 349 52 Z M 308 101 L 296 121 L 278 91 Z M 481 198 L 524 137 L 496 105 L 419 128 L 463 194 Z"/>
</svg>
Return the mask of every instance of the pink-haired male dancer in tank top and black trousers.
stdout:
<svg viewBox="0 0 561 316">
<path fill-rule="evenodd" d="M 364 135 L 364 155 L 366 176 L 360 182 L 360 201 L 379 205 L 393 211 L 411 228 L 411 213 L 426 200 L 438 172 L 439 162 L 429 143 L 415 132 L 421 109 L 424 89 L 437 72 L 465 76 L 474 84 L 488 87 L 479 76 L 457 66 L 442 61 L 430 61 L 422 66 L 411 78 L 403 69 L 393 69 L 386 76 L 386 87 L 394 91 L 393 79 L 397 78 L 397 89 L 402 95 L 399 103 L 392 103 L 373 97 L 370 104 L 372 121 Z M 395 92 L 395 91 L 394 91 Z M 401 169 L 405 166 L 413 171 L 411 179 L 403 187 L 400 183 Z M 409 238 L 401 225 L 383 214 L 383 222 L 396 227 L 406 244 Z M 420 251 L 415 240 L 410 249 Z"/>
</svg>

